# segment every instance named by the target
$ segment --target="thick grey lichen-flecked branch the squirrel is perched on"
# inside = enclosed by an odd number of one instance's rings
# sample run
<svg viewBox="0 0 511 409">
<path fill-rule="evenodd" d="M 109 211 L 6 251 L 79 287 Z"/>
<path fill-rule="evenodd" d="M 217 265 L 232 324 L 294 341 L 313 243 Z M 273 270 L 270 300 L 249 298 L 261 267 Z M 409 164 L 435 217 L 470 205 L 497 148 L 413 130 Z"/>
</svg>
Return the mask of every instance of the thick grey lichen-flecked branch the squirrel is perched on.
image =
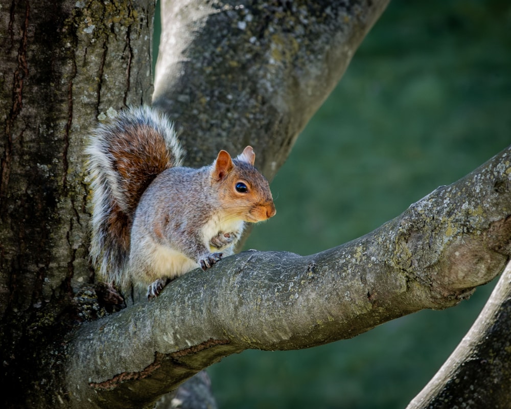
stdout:
<svg viewBox="0 0 511 409">
<path fill-rule="evenodd" d="M 69 346 L 69 392 L 80 407 L 140 406 L 247 348 L 307 348 L 458 303 L 511 254 L 510 155 L 511 146 L 339 247 L 228 257 L 152 302 L 83 325 Z"/>
</svg>

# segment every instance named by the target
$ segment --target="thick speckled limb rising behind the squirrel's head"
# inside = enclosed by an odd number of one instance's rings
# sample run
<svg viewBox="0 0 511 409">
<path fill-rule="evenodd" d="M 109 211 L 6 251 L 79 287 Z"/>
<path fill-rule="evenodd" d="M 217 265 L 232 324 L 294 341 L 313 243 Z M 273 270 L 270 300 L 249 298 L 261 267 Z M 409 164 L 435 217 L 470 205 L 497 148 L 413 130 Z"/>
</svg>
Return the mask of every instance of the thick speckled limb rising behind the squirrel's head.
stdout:
<svg viewBox="0 0 511 409">
<path fill-rule="evenodd" d="M 187 160 L 252 145 L 272 179 L 389 0 L 162 0 L 153 106 Z"/>
</svg>

